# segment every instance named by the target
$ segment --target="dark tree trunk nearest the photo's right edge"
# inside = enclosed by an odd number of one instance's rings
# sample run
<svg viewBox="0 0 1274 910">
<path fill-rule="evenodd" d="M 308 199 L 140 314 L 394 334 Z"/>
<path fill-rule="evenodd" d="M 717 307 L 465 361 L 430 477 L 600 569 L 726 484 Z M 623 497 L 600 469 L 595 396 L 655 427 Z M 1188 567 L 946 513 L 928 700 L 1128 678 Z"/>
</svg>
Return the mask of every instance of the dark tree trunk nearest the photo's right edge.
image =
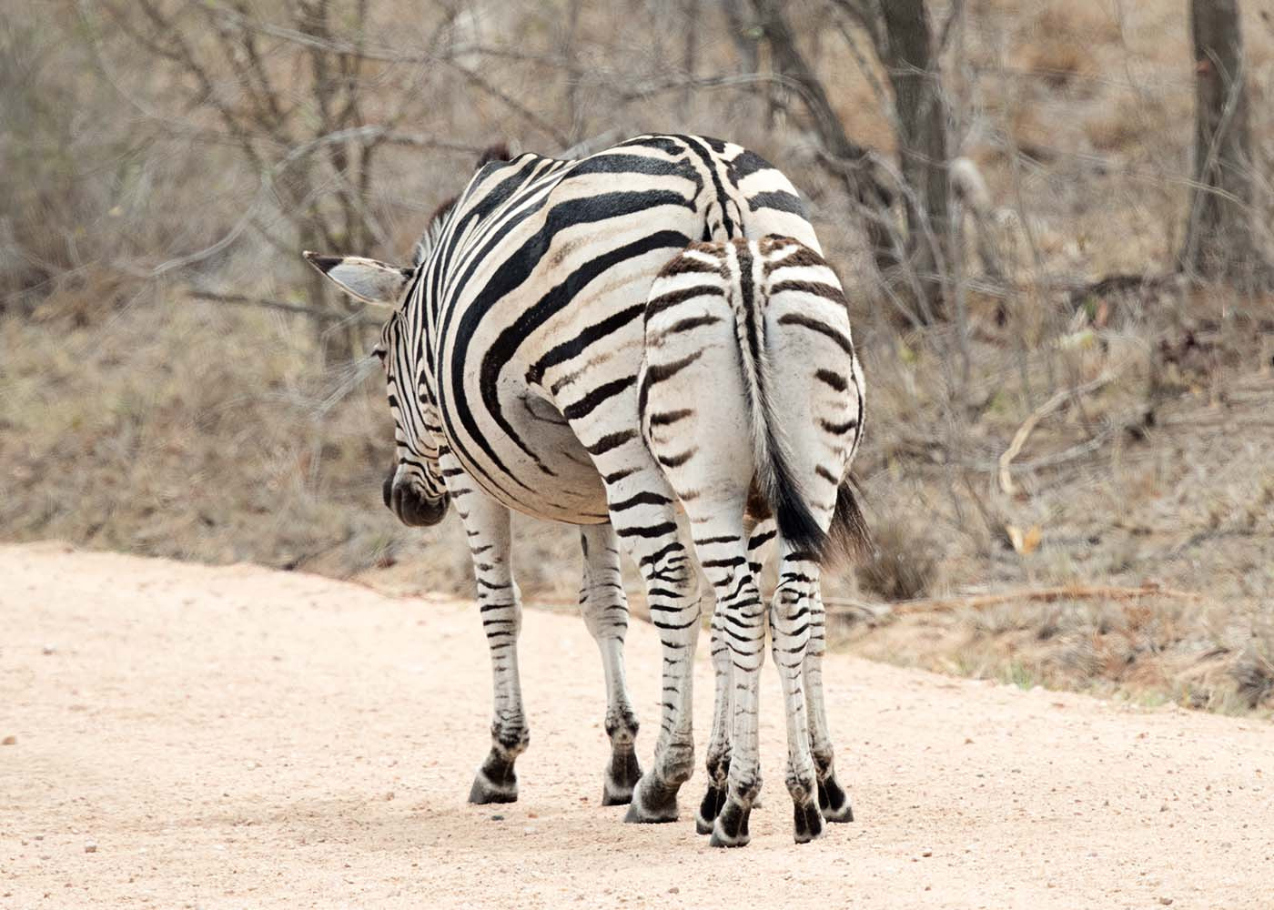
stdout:
<svg viewBox="0 0 1274 910">
<path fill-rule="evenodd" d="M 1254 289 L 1268 265 L 1252 233 L 1252 158 L 1238 0 L 1191 0 L 1194 185 L 1180 268 Z"/>
</svg>

